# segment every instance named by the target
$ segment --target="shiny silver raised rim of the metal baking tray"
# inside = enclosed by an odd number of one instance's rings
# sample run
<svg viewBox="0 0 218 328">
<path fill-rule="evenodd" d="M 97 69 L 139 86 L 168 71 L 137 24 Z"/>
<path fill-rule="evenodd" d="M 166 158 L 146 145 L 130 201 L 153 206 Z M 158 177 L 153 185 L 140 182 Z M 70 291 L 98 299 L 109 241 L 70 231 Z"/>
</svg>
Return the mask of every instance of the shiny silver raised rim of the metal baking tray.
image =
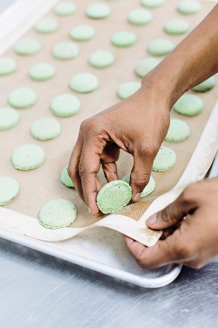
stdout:
<svg viewBox="0 0 218 328">
<path fill-rule="evenodd" d="M 216 0 L 204 0 L 204 1 L 211 1 L 211 2 L 217 2 Z M 5 33 L 0 35 L 0 38 L 4 38 L 7 36 L 7 33 L 10 32 L 12 29 L 15 29 L 16 26 L 25 19 L 27 14 L 31 14 L 33 11 L 37 10 L 39 5 L 41 4 L 41 10 L 38 13 L 38 17 L 41 17 L 44 13 L 46 13 L 52 5 L 54 5 L 58 0 L 50 0 L 47 1 L 46 6 L 45 6 L 45 0 L 35 0 L 34 1 L 34 6 L 29 6 L 28 0 L 17 0 L 14 4 L 9 6 L 7 10 L 5 10 L 1 15 L 0 15 L 0 27 L 1 25 L 5 24 L 5 22 L 10 21 L 9 17 L 13 17 L 13 15 L 16 13 L 17 15 L 17 10 L 19 7 L 26 8 L 26 11 L 23 11 L 22 15 L 19 16 L 20 19 L 17 19 L 16 22 L 11 26 L 8 27 L 8 29 L 5 30 Z M 25 6 L 28 5 L 28 6 Z M 18 15 L 17 15 L 18 16 Z M 37 19 L 38 19 L 37 17 Z M 35 19 L 36 20 L 36 19 Z M 5 26 L 5 25 L 4 25 Z M 30 26 L 32 26 L 32 21 Z M 20 36 L 25 33 L 26 30 L 30 26 L 26 26 L 25 28 L 20 31 Z M 16 36 L 16 38 L 19 36 Z M 0 48 L 0 54 L 4 52 L 9 46 L 13 44 L 15 40 L 8 40 L 7 46 L 4 49 L 4 46 Z M 181 272 L 182 265 L 181 264 L 171 264 L 167 267 L 166 272 L 164 275 L 161 275 L 159 277 L 155 278 L 147 278 L 147 277 L 140 277 L 136 274 L 127 272 L 125 270 L 121 270 L 115 267 L 112 267 L 110 265 L 106 265 L 103 263 L 100 263 L 95 260 L 91 260 L 87 257 L 79 256 L 77 254 L 68 252 L 66 250 L 62 250 L 58 247 L 55 247 L 54 245 L 49 245 L 49 242 L 45 242 L 42 240 L 34 239 L 28 236 L 24 236 L 21 234 L 18 234 L 16 232 L 7 230 L 5 228 L 0 228 L 0 237 L 13 241 L 15 243 L 27 246 L 29 248 L 38 250 L 40 252 L 43 252 L 45 254 L 49 254 L 51 256 L 55 256 L 58 258 L 62 258 L 66 261 L 69 261 L 71 263 L 81 265 L 83 267 L 86 267 L 88 269 L 100 272 L 102 274 L 118 278 L 120 280 L 132 283 L 134 285 L 144 287 L 144 288 L 158 288 L 158 287 L 163 287 L 171 283 L 176 277 L 178 277 L 179 273 Z"/>
</svg>

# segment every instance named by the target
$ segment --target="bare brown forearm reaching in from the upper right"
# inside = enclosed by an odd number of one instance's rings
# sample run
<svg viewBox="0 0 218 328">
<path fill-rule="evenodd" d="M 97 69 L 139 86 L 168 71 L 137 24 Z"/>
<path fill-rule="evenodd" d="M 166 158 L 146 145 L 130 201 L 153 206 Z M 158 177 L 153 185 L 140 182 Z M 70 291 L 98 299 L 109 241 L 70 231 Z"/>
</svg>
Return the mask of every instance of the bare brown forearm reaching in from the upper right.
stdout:
<svg viewBox="0 0 218 328">
<path fill-rule="evenodd" d="M 195 85 L 218 72 L 218 5 L 142 80 L 154 83 L 169 106 Z"/>
</svg>

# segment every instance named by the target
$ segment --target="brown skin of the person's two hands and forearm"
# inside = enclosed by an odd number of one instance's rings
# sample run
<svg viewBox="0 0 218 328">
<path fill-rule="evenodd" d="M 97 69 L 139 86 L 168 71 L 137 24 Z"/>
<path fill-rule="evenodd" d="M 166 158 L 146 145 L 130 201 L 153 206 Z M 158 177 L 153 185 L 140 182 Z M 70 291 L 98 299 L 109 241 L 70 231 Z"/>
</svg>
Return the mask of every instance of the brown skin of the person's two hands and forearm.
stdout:
<svg viewBox="0 0 218 328">
<path fill-rule="evenodd" d="M 133 190 L 132 200 L 138 201 L 149 181 L 154 158 L 167 134 L 174 103 L 184 92 L 216 72 L 218 5 L 158 66 L 144 76 L 142 86 L 136 93 L 82 122 L 68 174 L 92 215 L 99 212 L 96 195 L 102 184 L 96 174 L 100 166 L 108 182 L 117 180 L 119 149 L 132 154 L 134 166 L 130 185 Z M 216 201 L 212 202 L 210 197 L 215 192 L 218 195 L 218 187 L 215 185 L 217 178 L 188 187 L 174 203 L 163 210 L 165 212 L 158 213 L 155 222 L 149 221 L 154 221 L 154 217 L 147 220 L 146 224 L 153 229 L 168 229 L 165 240 L 158 241 L 155 246 L 146 248 L 124 236 L 128 249 L 140 266 L 155 268 L 176 262 L 201 267 L 218 255 L 218 248 L 214 247 L 213 242 L 218 241 L 218 221 L 215 215 L 218 212 Z M 200 198 L 203 189 L 205 201 Z M 188 196 L 191 208 L 187 206 Z M 179 214 L 175 210 L 177 207 Z M 190 211 L 192 214 L 189 214 Z M 181 215 L 187 215 L 187 219 L 181 220 Z M 203 224 L 205 217 L 209 218 L 207 226 Z M 179 224 L 176 230 L 175 223 Z M 216 236 L 212 240 L 211 234 L 215 230 Z M 188 242 L 190 240 L 191 243 Z"/>
</svg>

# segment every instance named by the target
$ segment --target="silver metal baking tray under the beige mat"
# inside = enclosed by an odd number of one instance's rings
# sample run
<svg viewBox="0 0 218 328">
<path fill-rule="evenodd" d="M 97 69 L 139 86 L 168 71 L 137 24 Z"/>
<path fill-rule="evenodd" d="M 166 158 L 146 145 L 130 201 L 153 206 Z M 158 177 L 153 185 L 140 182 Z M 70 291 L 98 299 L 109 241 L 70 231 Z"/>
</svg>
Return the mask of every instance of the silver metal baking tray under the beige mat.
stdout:
<svg viewBox="0 0 218 328">
<path fill-rule="evenodd" d="M 17 0 L 9 7 L 0 16 L 0 53 L 21 37 L 56 2 L 58 1 Z M 19 31 L 16 31 L 16 36 L 13 37 L 10 33 L 8 38 L 7 34 L 17 25 Z M 216 163 L 214 165 L 217 167 Z M 213 172 L 216 171 L 217 169 Z M 96 240 L 96 232 L 92 234 L 92 229 L 82 233 L 81 236 L 60 242 L 36 240 L 3 228 L 0 228 L 0 237 L 142 287 L 165 286 L 179 275 L 182 266 L 177 264 L 158 270 L 142 270 L 129 255 L 119 233 L 107 228 L 97 229 L 99 229 L 98 240 Z M 81 249 L 81 238 L 84 239 L 83 249 Z"/>
</svg>

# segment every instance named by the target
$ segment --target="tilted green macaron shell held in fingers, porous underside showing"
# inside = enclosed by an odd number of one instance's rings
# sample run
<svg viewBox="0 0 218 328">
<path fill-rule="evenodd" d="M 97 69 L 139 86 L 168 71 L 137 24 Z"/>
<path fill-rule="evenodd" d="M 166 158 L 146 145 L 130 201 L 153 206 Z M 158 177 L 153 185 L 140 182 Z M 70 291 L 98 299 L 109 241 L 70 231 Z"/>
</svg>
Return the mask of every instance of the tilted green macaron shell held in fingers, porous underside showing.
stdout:
<svg viewBox="0 0 218 328">
<path fill-rule="evenodd" d="M 132 188 L 122 180 L 111 181 L 103 186 L 96 198 L 98 208 L 104 214 L 111 214 L 126 206 L 132 197 Z"/>
</svg>

